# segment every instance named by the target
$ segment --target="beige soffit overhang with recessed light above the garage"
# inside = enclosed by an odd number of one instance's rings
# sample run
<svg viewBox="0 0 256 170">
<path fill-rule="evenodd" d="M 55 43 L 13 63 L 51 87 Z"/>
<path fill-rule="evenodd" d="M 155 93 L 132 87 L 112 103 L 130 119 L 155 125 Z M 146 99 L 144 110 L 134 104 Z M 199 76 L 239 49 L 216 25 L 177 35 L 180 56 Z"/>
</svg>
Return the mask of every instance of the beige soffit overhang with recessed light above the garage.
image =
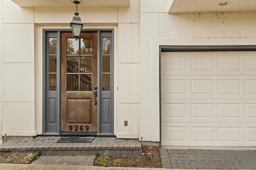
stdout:
<svg viewBox="0 0 256 170">
<path fill-rule="evenodd" d="M 169 4 L 168 13 L 171 14 L 255 12 L 256 10 L 256 0 L 170 0 Z"/>
</svg>

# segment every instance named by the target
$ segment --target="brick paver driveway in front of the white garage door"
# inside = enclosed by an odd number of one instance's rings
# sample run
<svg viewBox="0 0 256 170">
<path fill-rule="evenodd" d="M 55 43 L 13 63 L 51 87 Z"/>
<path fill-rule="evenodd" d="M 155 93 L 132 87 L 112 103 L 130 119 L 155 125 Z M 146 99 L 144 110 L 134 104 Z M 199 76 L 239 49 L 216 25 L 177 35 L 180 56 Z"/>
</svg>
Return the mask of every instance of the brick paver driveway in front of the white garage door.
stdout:
<svg viewBox="0 0 256 170">
<path fill-rule="evenodd" d="M 256 169 L 256 150 L 160 149 L 163 168 Z"/>
</svg>

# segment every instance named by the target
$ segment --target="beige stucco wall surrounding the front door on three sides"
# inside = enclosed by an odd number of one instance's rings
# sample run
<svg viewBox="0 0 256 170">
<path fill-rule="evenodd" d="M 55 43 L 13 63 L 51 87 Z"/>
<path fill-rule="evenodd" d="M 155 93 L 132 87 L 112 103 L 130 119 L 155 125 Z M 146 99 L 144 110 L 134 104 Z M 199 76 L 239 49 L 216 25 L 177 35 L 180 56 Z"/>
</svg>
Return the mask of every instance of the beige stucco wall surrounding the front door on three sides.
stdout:
<svg viewBox="0 0 256 170">
<path fill-rule="evenodd" d="M 117 137 L 138 138 L 139 119 L 134 117 L 139 117 L 140 1 L 130 4 L 78 6 L 78 11 L 84 29 L 114 29 L 114 131 Z M 74 10 L 75 6 L 20 8 L 3 0 L 3 134 L 42 133 L 42 32 L 70 29 Z"/>
</svg>

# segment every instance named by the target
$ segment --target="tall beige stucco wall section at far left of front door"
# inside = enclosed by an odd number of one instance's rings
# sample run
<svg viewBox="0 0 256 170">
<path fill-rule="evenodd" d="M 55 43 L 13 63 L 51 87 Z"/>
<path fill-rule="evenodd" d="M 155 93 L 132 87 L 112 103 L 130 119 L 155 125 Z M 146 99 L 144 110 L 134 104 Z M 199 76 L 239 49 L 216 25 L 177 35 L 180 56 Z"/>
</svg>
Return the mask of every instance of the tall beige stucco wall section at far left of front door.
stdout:
<svg viewBox="0 0 256 170">
<path fill-rule="evenodd" d="M 2 133 L 34 136 L 34 9 L 10 0 L 2 9 Z"/>
</svg>

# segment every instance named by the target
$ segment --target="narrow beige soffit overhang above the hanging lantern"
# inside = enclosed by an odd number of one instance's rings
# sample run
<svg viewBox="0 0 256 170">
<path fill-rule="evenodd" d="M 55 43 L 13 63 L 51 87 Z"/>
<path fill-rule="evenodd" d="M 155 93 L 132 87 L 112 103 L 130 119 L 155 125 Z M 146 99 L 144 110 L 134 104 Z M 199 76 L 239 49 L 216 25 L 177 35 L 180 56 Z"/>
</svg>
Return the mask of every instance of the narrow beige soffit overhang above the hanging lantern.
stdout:
<svg viewBox="0 0 256 170">
<path fill-rule="evenodd" d="M 20 7 L 74 6 L 70 0 L 12 0 Z M 79 6 L 130 6 L 130 0 L 82 0 Z"/>
</svg>

